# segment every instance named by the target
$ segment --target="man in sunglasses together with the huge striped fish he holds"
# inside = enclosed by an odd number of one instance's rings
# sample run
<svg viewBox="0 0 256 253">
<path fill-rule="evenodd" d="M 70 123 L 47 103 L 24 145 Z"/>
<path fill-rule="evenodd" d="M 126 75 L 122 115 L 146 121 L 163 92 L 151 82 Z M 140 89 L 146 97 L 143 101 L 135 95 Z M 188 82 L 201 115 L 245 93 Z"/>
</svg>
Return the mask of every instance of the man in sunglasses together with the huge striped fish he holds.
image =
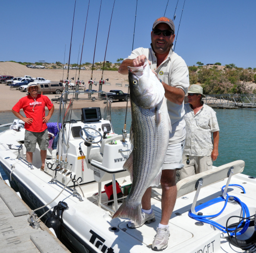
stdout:
<svg viewBox="0 0 256 253">
<path fill-rule="evenodd" d="M 173 21 L 158 18 L 151 32 L 151 48 L 133 50 L 118 70 L 122 74 L 129 73 L 134 149 L 123 167 L 130 171 L 133 186 L 113 218 L 130 218 L 132 221 L 127 226 L 131 229 L 155 221 L 151 186 L 158 185 L 159 178 L 162 217 L 152 244 L 152 249 L 157 251 L 168 245 L 168 222 L 177 197 L 176 170 L 184 166 L 183 100 L 189 87 L 189 75 L 185 61 L 173 52 L 174 39 Z"/>
</svg>

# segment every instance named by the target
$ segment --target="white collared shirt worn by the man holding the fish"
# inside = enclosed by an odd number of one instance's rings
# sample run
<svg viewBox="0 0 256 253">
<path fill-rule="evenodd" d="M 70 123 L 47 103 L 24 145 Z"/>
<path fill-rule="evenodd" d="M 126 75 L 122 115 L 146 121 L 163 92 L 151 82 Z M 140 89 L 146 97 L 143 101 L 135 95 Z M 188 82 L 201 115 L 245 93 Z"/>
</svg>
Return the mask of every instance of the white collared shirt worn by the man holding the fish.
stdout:
<svg viewBox="0 0 256 253">
<path fill-rule="evenodd" d="M 140 55 L 145 55 L 151 61 L 151 69 L 158 74 L 158 78 L 169 86 L 181 88 L 187 93 L 189 87 L 189 74 L 185 61 L 170 49 L 170 52 L 157 68 L 157 58 L 152 48 L 139 47 L 133 50 L 126 59 L 135 59 Z M 124 59 L 125 60 L 125 59 Z M 186 137 L 185 121 L 183 119 L 185 111 L 184 104 L 178 105 L 166 100 L 170 122 L 172 123 L 172 134 L 169 136 L 169 143 L 175 144 L 183 141 Z"/>
</svg>

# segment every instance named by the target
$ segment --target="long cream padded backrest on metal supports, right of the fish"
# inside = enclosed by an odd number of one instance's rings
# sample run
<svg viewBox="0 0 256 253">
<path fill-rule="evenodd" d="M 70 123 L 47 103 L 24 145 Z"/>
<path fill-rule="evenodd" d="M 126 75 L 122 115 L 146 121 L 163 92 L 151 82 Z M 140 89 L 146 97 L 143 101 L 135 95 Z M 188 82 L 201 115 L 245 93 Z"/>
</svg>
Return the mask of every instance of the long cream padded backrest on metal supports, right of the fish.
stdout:
<svg viewBox="0 0 256 253">
<path fill-rule="evenodd" d="M 233 174 L 241 173 L 244 170 L 245 162 L 242 160 L 224 164 L 195 175 L 188 176 L 177 183 L 177 198 L 196 190 L 195 185 L 199 179 L 203 179 L 202 187 L 214 184 L 227 178 L 230 167 L 233 167 Z"/>
</svg>

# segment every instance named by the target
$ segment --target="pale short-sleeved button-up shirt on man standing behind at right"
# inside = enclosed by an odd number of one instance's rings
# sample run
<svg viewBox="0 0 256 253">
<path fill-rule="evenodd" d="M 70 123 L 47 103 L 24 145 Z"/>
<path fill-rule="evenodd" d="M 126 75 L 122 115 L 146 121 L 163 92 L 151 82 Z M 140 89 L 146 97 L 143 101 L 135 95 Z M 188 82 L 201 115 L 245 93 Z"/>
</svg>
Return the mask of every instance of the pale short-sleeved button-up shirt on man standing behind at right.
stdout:
<svg viewBox="0 0 256 253">
<path fill-rule="evenodd" d="M 216 112 L 207 105 L 195 115 L 190 104 L 185 105 L 186 140 L 183 155 L 210 156 L 213 149 L 211 133 L 220 131 Z"/>
</svg>

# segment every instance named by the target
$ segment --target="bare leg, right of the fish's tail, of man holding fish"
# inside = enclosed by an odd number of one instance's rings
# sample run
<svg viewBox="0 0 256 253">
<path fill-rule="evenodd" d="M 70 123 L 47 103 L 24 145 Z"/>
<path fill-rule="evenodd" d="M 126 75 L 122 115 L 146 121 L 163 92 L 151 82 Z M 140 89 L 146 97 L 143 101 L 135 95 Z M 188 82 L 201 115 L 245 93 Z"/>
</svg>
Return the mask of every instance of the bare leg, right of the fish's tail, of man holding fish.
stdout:
<svg viewBox="0 0 256 253">
<path fill-rule="evenodd" d="M 168 225 L 177 198 L 176 169 L 162 170 L 162 218 L 160 223 Z"/>
</svg>

